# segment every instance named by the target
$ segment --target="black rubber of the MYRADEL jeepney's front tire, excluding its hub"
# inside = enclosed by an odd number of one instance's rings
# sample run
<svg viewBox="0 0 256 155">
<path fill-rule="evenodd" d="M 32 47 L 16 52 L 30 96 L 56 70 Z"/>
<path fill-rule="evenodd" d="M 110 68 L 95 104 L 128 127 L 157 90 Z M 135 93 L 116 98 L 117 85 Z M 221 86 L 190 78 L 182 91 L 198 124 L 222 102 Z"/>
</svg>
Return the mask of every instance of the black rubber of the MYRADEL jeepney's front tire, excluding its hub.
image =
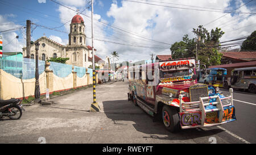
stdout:
<svg viewBox="0 0 256 155">
<path fill-rule="evenodd" d="M 170 116 L 170 125 L 168 125 L 168 127 L 164 123 L 164 118 L 163 118 L 164 112 L 167 112 L 168 115 Z M 162 120 L 163 120 L 164 127 L 166 127 L 166 129 L 168 131 L 170 131 L 170 132 L 180 131 L 181 128 L 180 128 L 179 114 L 178 114 L 177 110 L 175 110 L 174 108 L 164 105 L 163 109 L 162 109 Z"/>
</svg>

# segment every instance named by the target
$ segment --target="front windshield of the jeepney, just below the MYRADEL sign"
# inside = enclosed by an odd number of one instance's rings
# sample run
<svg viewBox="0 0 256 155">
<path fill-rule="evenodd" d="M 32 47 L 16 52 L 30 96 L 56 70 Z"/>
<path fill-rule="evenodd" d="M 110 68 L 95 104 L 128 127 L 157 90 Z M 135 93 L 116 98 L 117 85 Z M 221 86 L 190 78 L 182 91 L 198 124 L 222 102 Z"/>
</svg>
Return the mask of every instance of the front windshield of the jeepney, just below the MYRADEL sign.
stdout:
<svg viewBox="0 0 256 155">
<path fill-rule="evenodd" d="M 161 71 L 160 78 L 190 76 L 192 73 L 193 69 Z"/>
</svg>

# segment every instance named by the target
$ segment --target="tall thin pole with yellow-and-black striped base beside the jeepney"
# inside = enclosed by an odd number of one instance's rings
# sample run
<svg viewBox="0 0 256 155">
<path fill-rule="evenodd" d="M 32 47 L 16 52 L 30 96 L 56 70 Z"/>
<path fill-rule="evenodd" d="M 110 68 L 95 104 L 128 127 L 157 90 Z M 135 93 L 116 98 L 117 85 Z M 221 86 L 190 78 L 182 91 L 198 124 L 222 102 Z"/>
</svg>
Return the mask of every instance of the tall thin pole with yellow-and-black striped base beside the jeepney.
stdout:
<svg viewBox="0 0 256 155">
<path fill-rule="evenodd" d="M 90 112 L 99 112 L 100 106 L 98 106 L 98 103 L 96 102 L 96 73 L 95 73 L 95 60 L 94 60 L 94 45 L 93 45 L 93 0 L 92 2 L 92 52 L 93 52 L 93 103 L 90 104 Z"/>
</svg>

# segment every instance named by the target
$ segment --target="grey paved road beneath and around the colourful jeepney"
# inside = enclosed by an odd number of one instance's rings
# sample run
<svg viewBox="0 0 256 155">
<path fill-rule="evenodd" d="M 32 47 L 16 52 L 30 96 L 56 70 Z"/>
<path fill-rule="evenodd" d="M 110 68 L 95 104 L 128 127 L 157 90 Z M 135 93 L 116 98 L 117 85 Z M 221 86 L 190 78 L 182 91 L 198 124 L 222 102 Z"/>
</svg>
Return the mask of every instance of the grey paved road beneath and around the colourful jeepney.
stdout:
<svg viewBox="0 0 256 155">
<path fill-rule="evenodd" d="M 40 143 L 44 139 L 46 143 L 189 144 L 211 143 L 211 139 L 224 144 L 255 143 L 253 105 L 234 102 L 238 120 L 221 125 L 222 128 L 185 129 L 171 133 L 166 131 L 162 122 L 152 122 L 151 116 L 127 101 L 127 86 L 127 82 L 97 86 L 101 112 L 88 112 L 93 100 L 92 88 L 54 98 L 56 104 L 51 106 L 27 107 L 20 120 L 0 120 L 0 143 Z M 245 95 L 246 102 L 254 97 L 252 94 L 238 94 Z M 236 93 L 234 98 L 242 99 Z"/>
</svg>

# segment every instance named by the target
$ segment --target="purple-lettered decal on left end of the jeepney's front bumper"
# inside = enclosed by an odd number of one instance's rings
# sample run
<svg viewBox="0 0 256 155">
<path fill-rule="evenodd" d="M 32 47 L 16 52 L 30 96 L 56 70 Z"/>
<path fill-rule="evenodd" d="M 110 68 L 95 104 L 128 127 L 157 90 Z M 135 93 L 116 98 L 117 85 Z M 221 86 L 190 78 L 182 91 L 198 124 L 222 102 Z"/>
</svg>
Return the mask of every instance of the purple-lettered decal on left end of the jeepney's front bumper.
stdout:
<svg viewBox="0 0 256 155">
<path fill-rule="evenodd" d="M 200 125 L 201 124 L 201 112 L 190 112 L 190 113 L 185 113 L 182 112 L 180 113 L 180 118 L 181 118 L 181 125 Z"/>
</svg>

